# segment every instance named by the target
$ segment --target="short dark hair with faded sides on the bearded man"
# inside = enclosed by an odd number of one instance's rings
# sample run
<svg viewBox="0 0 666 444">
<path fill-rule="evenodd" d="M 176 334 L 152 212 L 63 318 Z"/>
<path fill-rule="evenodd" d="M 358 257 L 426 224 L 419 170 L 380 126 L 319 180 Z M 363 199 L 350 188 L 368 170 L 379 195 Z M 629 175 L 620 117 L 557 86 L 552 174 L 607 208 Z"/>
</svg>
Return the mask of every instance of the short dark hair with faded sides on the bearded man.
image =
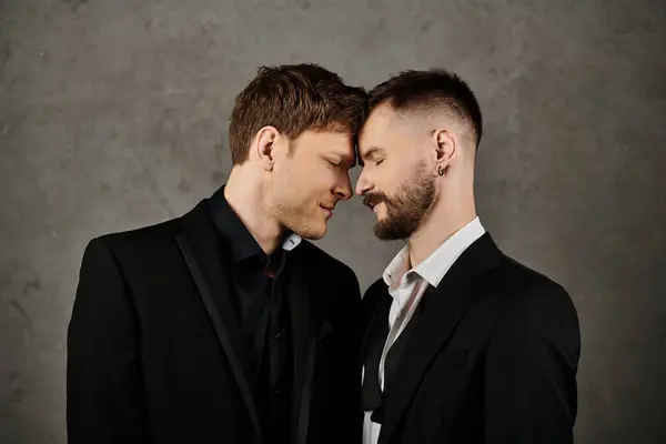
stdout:
<svg viewBox="0 0 666 444">
<path fill-rule="evenodd" d="M 443 70 L 403 71 L 370 91 L 369 110 L 387 103 L 396 111 L 446 108 L 471 131 L 476 148 L 483 117 L 476 97 L 457 74 Z"/>
</svg>

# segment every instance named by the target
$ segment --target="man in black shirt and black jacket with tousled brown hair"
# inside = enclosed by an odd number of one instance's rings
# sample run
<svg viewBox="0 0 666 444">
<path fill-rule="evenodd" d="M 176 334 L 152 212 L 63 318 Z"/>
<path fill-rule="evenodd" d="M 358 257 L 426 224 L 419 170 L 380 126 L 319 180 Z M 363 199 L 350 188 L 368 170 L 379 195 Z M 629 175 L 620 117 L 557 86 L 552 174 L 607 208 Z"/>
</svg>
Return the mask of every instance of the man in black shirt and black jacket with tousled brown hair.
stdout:
<svg viewBox="0 0 666 444">
<path fill-rule="evenodd" d="M 68 333 L 69 443 L 354 443 L 361 292 L 307 240 L 352 195 L 366 94 L 319 65 L 236 97 L 225 185 L 85 249 Z"/>
</svg>

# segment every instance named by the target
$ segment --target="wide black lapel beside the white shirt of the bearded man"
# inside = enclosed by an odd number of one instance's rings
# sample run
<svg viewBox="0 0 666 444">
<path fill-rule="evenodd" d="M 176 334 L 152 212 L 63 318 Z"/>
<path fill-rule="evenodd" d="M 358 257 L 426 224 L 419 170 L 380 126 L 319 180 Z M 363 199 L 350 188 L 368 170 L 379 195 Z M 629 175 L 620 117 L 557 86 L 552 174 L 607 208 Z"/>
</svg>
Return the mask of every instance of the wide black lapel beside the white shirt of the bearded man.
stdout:
<svg viewBox="0 0 666 444">
<path fill-rule="evenodd" d="M 395 377 L 384 393 L 384 422 L 380 443 L 389 443 L 437 352 L 458 322 L 482 294 L 481 286 L 497 265 L 501 253 L 490 234 L 484 234 L 458 258 L 436 289 L 431 289 L 427 310 L 401 356 Z"/>
</svg>

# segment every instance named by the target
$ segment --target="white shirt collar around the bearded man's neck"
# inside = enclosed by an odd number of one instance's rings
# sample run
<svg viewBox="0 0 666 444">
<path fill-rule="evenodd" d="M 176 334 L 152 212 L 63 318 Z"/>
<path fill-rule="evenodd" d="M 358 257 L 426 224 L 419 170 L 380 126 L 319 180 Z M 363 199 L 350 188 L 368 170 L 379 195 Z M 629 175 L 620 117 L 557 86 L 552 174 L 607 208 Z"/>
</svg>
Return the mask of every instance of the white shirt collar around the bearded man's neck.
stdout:
<svg viewBox="0 0 666 444">
<path fill-rule="evenodd" d="M 384 282 L 389 287 L 392 287 L 401 284 L 403 275 L 406 276 L 405 281 L 407 281 L 415 273 L 427 281 L 428 284 L 437 286 L 461 254 L 484 233 L 485 229 L 481 224 L 478 216 L 474 218 L 444 241 L 437 250 L 416 268 L 411 270 L 407 270 L 407 264 L 410 263 L 410 245 L 407 244 L 403 246 L 384 270 L 382 275 Z"/>
</svg>

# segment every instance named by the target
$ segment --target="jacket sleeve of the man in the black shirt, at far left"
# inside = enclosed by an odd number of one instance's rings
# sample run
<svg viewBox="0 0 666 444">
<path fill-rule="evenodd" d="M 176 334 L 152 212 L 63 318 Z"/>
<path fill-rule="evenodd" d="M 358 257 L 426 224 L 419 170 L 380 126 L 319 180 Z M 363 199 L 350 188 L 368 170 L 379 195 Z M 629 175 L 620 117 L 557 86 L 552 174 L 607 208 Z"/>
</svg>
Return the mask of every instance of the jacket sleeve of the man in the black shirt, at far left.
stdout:
<svg viewBox="0 0 666 444">
<path fill-rule="evenodd" d="M 68 329 L 68 442 L 143 441 L 138 322 L 103 239 L 83 254 Z"/>
</svg>

